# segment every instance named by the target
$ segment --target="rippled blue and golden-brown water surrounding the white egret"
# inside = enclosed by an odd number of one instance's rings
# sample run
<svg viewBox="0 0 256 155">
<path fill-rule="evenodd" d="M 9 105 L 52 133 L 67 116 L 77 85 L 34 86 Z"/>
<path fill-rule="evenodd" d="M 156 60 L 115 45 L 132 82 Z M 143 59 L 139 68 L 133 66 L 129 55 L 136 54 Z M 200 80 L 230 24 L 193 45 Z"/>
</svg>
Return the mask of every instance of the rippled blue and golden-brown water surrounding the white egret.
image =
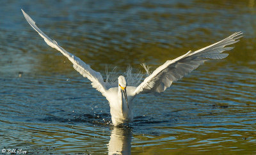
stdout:
<svg viewBox="0 0 256 155">
<path fill-rule="evenodd" d="M 250 1 L 8 1 L 0 6 L 0 150 L 32 154 L 255 154 L 256 16 Z M 134 122 L 109 105 L 24 19 L 105 77 L 243 31 L 227 59 L 134 100 Z"/>
</svg>

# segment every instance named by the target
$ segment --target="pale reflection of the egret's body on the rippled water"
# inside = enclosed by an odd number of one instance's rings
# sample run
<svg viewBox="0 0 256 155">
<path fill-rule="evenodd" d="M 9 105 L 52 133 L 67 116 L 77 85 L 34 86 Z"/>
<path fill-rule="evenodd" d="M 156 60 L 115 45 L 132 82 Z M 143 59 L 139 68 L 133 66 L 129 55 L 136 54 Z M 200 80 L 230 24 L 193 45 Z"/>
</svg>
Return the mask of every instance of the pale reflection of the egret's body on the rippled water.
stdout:
<svg viewBox="0 0 256 155">
<path fill-rule="evenodd" d="M 132 129 L 113 127 L 108 144 L 108 154 L 131 154 Z"/>
</svg>

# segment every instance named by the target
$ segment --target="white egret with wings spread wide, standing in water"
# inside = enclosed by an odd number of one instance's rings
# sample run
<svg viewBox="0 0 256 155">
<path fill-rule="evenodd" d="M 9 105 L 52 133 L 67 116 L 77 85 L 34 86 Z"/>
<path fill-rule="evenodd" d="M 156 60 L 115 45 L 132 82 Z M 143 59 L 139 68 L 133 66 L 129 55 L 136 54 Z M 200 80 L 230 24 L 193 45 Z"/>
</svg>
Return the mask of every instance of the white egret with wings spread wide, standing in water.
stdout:
<svg viewBox="0 0 256 155">
<path fill-rule="evenodd" d="M 35 29 L 35 31 L 44 38 L 47 45 L 52 48 L 56 48 L 56 50 L 59 50 L 63 55 L 65 55 L 65 57 L 73 63 L 74 69 L 83 75 L 83 77 L 87 77 L 92 82 L 92 87 L 97 89 L 97 91 L 101 92 L 102 95 L 106 97 L 109 101 L 111 119 L 114 125 L 132 121 L 132 100 L 135 96 L 141 93 L 163 92 L 166 88 L 172 85 L 172 82 L 184 77 L 184 75 L 195 70 L 205 61 L 208 61 L 209 59 L 223 59 L 227 57 L 228 54 L 223 54 L 222 52 L 225 50 L 231 50 L 233 47 L 225 46 L 236 43 L 239 41 L 238 39 L 242 37 L 241 32 L 234 33 L 231 36 L 228 36 L 228 38 L 209 45 L 208 47 L 196 50 L 195 52 L 189 51 L 176 59 L 168 60 L 152 73 L 150 73 L 148 68 L 143 65 L 147 71 L 148 77 L 145 78 L 138 87 L 136 87 L 135 85 L 127 86 L 127 79 L 122 75 L 118 77 L 118 83 L 116 84 L 108 82 L 108 80 L 104 82 L 102 75 L 100 75 L 99 72 L 92 70 L 92 68 L 81 61 L 79 57 L 70 54 L 60 47 L 56 41 L 51 40 L 35 25 L 35 22 L 28 14 L 23 10 L 22 13 L 33 29 Z M 137 78 L 141 77 L 139 76 Z"/>
</svg>

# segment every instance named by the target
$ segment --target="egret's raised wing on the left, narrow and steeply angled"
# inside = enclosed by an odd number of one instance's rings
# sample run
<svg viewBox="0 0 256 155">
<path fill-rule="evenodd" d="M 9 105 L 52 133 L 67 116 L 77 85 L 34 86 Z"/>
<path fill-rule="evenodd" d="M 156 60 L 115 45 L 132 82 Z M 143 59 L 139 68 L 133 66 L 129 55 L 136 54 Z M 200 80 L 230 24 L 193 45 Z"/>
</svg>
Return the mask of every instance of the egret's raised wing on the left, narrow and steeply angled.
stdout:
<svg viewBox="0 0 256 155">
<path fill-rule="evenodd" d="M 56 41 L 51 40 L 51 38 L 49 38 L 36 26 L 35 22 L 29 17 L 27 13 L 25 13 L 23 10 L 21 11 L 26 20 L 28 21 L 28 23 L 30 24 L 30 26 L 32 26 L 33 29 L 35 29 L 35 31 L 38 32 L 38 34 L 40 34 L 42 38 L 44 38 L 44 41 L 47 43 L 47 45 L 49 45 L 52 48 L 55 48 L 56 50 L 59 50 L 61 54 L 65 55 L 65 57 L 67 57 L 71 61 L 71 63 L 73 63 L 74 69 L 77 70 L 81 75 L 83 75 L 83 77 L 87 77 L 89 80 L 91 80 L 92 86 L 99 92 L 101 92 L 103 95 L 105 95 L 106 83 L 104 82 L 102 75 L 100 75 L 99 72 L 92 70 L 92 68 L 90 68 L 88 64 L 81 61 L 79 57 L 76 57 L 75 55 L 70 54 L 69 52 L 64 50 L 62 47 L 58 45 Z"/>
</svg>

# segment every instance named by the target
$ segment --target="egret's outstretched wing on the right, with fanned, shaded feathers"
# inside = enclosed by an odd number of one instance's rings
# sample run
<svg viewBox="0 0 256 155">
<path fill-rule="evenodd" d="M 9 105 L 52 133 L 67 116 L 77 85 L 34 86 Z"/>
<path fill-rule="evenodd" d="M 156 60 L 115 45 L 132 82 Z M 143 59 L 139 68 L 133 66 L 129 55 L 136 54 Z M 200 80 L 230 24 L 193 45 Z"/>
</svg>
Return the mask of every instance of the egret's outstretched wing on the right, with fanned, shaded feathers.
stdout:
<svg viewBox="0 0 256 155">
<path fill-rule="evenodd" d="M 233 47 L 225 47 L 236 43 L 237 39 L 241 38 L 241 32 L 234 33 L 228 38 L 217 43 L 209 45 L 208 47 L 189 51 L 188 53 L 177 57 L 176 59 L 166 61 L 162 66 L 159 66 L 151 75 L 136 88 L 134 94 L 163 92 L 167 87 L 172 85 L 173 81 L 177 81 L 184 77 L 191 71 L 195 70 L 209 59 L 223 59 L 228 54 L 221 54 L 225 50 L 231 50 Z"/>
</svg>

